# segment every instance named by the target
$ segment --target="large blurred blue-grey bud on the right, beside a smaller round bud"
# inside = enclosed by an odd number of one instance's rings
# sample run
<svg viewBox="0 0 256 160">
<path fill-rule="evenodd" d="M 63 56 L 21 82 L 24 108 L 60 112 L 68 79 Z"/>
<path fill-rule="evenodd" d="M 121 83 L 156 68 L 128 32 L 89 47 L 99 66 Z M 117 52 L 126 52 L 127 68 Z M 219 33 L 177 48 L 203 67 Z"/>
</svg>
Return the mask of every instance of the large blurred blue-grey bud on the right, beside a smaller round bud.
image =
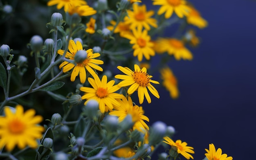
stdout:
<svg viewBox="0 0 256 160">
<path fill-rule="evenodd" d="M 166 124 L 161 121 L 153 123 L 152 127 L 149 129 L 150 134 L 148 141 L 150 145 L 155 145 L 161 142 L 162 138 L 166 133 Z"/>
</svg>

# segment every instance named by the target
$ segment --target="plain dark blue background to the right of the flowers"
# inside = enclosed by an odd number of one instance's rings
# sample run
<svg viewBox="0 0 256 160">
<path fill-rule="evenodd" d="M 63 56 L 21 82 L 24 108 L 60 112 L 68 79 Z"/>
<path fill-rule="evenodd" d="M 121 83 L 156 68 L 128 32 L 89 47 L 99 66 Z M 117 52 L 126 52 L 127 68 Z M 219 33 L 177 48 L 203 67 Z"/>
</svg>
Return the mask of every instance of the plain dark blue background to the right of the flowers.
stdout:
<svg viewBox="0 0 256 160">
<path fill-rule="evenodd" d="M 254 159 L 256 122 L 256 1 L 191 0 L 209 26 L 197 30 L 192 61 L 171 61 L 180 98 L 159 89 L 145 115 L 175 127 L 174 140 L 204 158 L 210 143 L 234 160 Z M 159 105 L 160 104 L 160 105 Z"/>
</svg>

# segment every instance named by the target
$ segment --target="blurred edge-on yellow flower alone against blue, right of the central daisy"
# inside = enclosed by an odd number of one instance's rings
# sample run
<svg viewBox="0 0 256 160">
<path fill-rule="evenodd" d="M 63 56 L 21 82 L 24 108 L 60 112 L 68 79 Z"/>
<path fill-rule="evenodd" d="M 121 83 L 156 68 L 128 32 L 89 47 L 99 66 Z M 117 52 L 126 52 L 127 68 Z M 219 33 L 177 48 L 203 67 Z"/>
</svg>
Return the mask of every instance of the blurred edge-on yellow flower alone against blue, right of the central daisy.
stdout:
<svg viewBox="0 0 256 160">
<path fill-rule="evenodd" d="M 166 67 L 160 70 L 163 86 L 170 92 L 171 98 L 179 96 L 178 82 L 170 68 Z"/>
</svg>

